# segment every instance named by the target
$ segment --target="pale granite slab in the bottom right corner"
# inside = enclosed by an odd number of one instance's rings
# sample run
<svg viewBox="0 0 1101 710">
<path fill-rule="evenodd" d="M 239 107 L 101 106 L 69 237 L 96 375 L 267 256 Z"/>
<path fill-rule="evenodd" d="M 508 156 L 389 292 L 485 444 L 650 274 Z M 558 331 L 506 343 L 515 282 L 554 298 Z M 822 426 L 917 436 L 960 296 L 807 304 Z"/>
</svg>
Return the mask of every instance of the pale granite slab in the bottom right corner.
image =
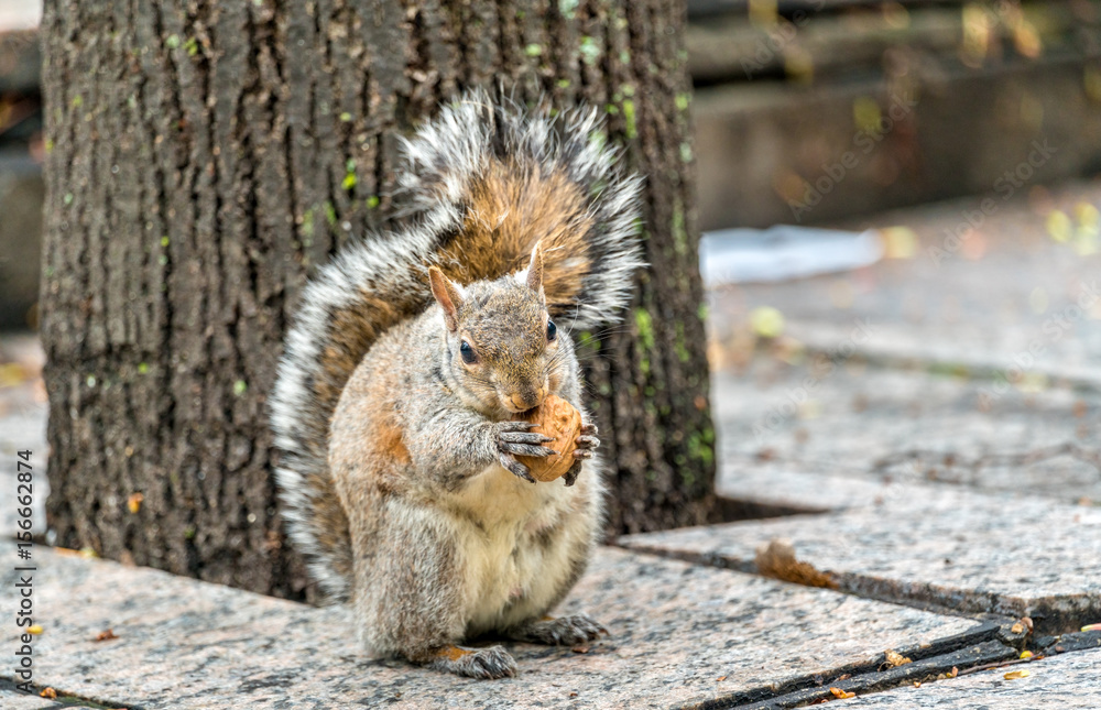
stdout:
<svg viewBox="0 0 1101 710">
<path fill-rule="evenodd" d="M 1101 649 L 1043 658 L 1012 668 L 994 668 L 947 680 L 904 686 L 852 698 L 846 708 L 955 708 L 957 710 L 1035 710 L 1101 708 Z M 1013 670 L 1024 678 L 1006 679 Z"/>
</svg>

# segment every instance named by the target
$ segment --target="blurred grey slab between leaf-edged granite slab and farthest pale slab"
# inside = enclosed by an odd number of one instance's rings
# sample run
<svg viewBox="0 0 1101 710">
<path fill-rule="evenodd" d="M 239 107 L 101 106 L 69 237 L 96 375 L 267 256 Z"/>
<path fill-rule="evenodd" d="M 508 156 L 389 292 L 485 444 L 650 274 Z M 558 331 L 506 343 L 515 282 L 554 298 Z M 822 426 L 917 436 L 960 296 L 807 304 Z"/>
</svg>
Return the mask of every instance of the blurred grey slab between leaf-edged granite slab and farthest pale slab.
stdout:
<svg viewBox="0 0 1101 710">
<path fill-rule="evenodd" d="M 715 373 L 711 401 L 723 492 L 778 467 L 873 488 L 938 482 L 1101 502 L 1098 394 L 1043 386 L 995 395 L 986 382 L 949 373 L 761 354 L 740 373 Z"/>
</svg>

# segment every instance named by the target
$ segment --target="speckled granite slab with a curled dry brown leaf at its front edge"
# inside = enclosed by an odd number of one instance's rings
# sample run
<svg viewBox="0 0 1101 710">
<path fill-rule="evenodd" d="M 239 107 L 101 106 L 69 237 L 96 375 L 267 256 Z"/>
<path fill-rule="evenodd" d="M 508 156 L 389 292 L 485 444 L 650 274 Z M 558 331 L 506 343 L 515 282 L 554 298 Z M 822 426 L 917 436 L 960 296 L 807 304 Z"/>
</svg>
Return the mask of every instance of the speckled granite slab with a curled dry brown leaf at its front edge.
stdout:
<svg viewBox="0 0 1101 710">
<path fill-rule="evenodd" d="M 862 597 L 1031 616 L 1055 633 L 1101 620 L 1101 509 L 896 485 L 879 504 L 620 538 L 629 549 L 755 570 L 788 540 L 797 559 Z"/>
</svg>

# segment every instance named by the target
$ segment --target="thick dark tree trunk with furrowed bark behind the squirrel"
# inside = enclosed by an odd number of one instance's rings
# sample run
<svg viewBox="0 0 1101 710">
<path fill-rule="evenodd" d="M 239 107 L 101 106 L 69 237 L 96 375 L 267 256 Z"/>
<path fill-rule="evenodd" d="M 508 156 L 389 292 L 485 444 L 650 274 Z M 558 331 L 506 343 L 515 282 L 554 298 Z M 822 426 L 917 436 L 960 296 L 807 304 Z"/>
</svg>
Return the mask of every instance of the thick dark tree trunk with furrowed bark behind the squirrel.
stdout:
<svg viewBox="0 0 1101 710">
<path fill-rule="evenodd" d="M 56 544 L 302 597 L 265 397 L 306 276 L 388 218 L 397 141 L 482 86 L 608 112 L 647 176 L 625 327 L 582 335 L 610 532 L 707 520 L 684 4 L 47 0 Z M 308 594 L 307 594 L 308 596 Z"/>
</svg>

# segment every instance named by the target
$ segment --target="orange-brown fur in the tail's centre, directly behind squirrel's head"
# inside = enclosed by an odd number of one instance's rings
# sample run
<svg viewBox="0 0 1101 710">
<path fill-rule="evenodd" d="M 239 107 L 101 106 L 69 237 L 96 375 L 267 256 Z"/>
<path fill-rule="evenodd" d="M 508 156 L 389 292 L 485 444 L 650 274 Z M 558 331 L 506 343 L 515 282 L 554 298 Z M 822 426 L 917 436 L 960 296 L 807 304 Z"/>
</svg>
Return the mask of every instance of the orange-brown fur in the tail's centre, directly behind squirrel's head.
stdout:
<svg viewBox="0 0 1101 710">
<path fill-rule="evenodd" d="M 580 188 L 562 173 L 500 161 L 470 188 L 462 230 L 440 253 L 448 277 L 469 284 L 514 273 L 542 240 L 547 303 L 571 302 L 590 267 L 585 236 L 592 221 Z"/>
</svg>

